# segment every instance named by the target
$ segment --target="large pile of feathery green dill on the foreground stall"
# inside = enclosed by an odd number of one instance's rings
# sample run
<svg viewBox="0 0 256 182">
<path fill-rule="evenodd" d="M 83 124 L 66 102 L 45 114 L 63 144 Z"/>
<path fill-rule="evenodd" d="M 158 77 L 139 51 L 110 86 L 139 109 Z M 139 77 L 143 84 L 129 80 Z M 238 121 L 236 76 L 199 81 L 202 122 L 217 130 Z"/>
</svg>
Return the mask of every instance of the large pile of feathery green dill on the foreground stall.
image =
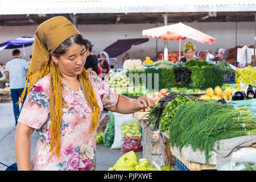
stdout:
<svg viewBox="0 0 256 182">
<path fill-rule="evenodd" d="M 218 102 L 196 102 L 184 105 L 169 127 L 170 146 L 179 150 L 191 144 L 192 150 L 205 151 L 209 165 L 210 151 L 221 139 L 255 135 L 254 115 L 245 107 L 235 108 Z M 218 147 L 220 147 L 218 145 Z"/>
</svg>

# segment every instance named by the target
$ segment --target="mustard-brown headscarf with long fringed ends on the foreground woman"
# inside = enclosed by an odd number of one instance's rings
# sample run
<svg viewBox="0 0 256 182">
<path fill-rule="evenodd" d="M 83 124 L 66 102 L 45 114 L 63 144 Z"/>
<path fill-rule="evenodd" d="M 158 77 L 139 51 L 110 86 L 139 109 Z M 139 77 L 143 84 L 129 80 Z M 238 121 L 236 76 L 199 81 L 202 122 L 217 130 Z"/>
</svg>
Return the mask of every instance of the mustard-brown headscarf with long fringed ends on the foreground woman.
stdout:
<svg viewBox="0 0 256 182">
<path fill-rule="evenodd" d="M 55 155 L 60 153 L 60 139 L 61 139 L 61 122 L 63 115 L 63 97 L 61 87 L 61 75 L 59 67 L 53 63 L 52 53 L 63 43 L 66 39 L 73 35 L 80 34 L 77 28 L 64 16 L 56 16 L 48 19 L 46 22 L 40 24 L 35 32 L 35 42 L 32 52 L 32 59 L 27 73 L 27 82 L 30 88 L 40 78 L 50 74 L 50 94 L 49 94 L 49 109 L 51 116 L 51 145 L 50 150 L 53 154 L 55 147 Z M 90 137 L 98 125 L 98 115 L 100 114 L 100 107 L 90 83 L 86 70 L 83 68 L 82 73 L 78 76 L 80 85 L 84 92 L 84 96 L 90 109 L 92 110 L 92 118 L 90 125 Z M 26 82 L 26 85 L 27 85 Z M 26 86 L 23 90 L 20 101 L 26 93 Z M 28 94 L 27 93 L 27 94 Z"/>
</svg>

